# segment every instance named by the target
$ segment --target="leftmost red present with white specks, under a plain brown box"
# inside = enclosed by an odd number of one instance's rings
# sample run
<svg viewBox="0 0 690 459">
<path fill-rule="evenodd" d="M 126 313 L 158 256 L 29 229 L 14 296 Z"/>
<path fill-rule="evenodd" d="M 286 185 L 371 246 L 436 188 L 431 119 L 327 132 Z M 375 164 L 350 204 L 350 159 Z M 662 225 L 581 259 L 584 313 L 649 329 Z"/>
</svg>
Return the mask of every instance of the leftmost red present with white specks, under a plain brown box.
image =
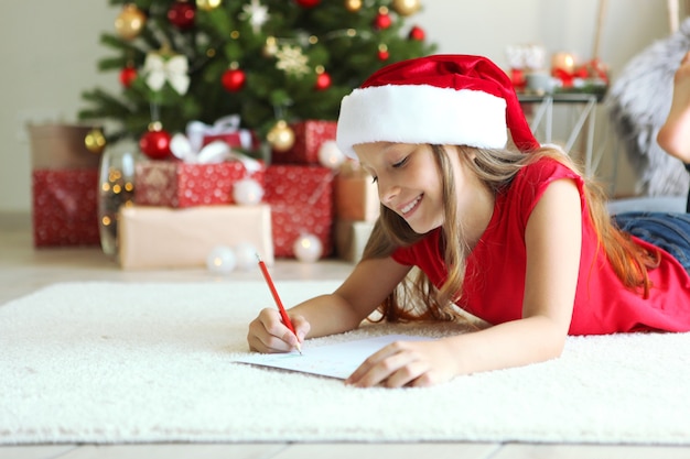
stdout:
<svg viewBox="0 0 690 459">
<path fill-rule="evenodd" d="M 98 170 L 34 170 L 35 247 L 98 245 Z"/>
</svg>

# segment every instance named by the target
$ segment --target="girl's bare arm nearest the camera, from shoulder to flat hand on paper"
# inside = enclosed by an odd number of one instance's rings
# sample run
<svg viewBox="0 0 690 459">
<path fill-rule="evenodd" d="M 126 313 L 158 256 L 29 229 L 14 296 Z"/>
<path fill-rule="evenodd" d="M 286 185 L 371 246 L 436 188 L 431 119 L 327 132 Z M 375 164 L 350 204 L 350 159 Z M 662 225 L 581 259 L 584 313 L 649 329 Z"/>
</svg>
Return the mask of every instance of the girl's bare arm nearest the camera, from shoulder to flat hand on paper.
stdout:
<svg viewBox="0 0 690 459">
<path fill-rule="evenodd" d="M 347 382 L 430 385 L 459 374 L 559 357 L 570 327 L 582 247 L 582 206 L 572 181 L 549 185 L 528 220 L 525 242 L 521 319 L 438 341 L 390 345 L 367 359 Z"/>
</svg>

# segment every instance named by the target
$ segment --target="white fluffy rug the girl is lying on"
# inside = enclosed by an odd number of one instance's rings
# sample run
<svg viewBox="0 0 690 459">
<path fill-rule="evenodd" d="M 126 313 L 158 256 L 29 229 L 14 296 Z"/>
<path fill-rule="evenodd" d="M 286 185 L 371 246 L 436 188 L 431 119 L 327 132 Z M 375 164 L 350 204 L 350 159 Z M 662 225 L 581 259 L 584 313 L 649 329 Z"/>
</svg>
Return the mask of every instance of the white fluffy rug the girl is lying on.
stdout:
<svg viewBox="0 0 690 459">
<path fill-rule="evenodd" d="M 287 304 L 333 282 L 282 282 Z M 0 444 L 539 441 L 690 445 L 690 334 L 569 338 L 562 358 L 432 389 L 231 363 L 262 282 L 57 284 L 0 307 Z M 309 341 L 451 327 L 373 326 Z"/>
</svg>

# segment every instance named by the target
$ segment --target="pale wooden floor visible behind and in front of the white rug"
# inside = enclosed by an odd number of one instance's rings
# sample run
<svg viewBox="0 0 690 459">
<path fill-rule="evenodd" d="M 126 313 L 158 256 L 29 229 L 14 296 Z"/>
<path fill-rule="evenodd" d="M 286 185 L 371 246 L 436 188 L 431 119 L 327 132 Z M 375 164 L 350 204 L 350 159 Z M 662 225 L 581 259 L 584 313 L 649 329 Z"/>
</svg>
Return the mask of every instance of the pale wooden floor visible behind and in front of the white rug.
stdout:
<svg viewBox="0 0 690 459">
<path fill-rule="evenodd" d="M 343 278 L 352 265 L 278 262 L 277 280 Z M 241 278 L 242 273 L 230 275 Z M 125 272 L 98 248 L 41 249 L 32 244 L 26 215 L 0 214 L 0 305 L 41 286 L 65 281 L 208 280 L 205 270 Z M 1 306 L 0 306 L 1 307 Z M 0 350 L 1 351 L 1 350 Z M 2 390 L 0 387 L 0 390 Z M 459 396 L 463 396 L 459 394 Z M 690 396 L 690 394 L 689 394 Z M 0 407 L 2 409 L 2 407 Z M 2 426 L 0 426 L 0 429 Z M 690 447 L 525 445 L 525 444 L 164 444 L 164 445 L 23 445 L 0 446 L 0 459 L 690 459 Z"/>
</svg>

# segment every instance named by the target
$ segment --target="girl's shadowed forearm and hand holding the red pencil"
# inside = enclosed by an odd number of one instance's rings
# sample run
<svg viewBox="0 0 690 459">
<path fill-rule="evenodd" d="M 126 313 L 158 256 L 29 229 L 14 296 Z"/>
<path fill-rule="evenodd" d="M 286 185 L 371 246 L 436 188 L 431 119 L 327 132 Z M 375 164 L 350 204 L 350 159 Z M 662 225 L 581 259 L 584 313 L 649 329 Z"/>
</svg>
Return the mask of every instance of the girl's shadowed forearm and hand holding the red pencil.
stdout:
<svg viewBox="0 0 690 459">
<path fill-rule="evenodd" d="M 308 299 L 288 310 L 295 336 L 280 320 L 278 310 L 261 310 L 249 325 L 247 341 L 259 352 L 287 352 L 298 340 L 357 328 L 397 287 L 410 271 L 391 258 L 359 262 L 334 293 Z"/>
</svg>

